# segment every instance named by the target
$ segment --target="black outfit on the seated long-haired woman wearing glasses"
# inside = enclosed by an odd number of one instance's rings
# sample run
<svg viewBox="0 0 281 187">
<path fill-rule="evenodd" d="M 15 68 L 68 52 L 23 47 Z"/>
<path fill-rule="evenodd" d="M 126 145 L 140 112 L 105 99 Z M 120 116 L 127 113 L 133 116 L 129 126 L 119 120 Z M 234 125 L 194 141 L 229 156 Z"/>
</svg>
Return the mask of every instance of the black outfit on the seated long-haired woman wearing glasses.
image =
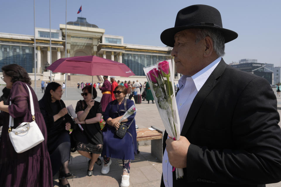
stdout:
<svg viewBox="0 0 281 187">
<path fill-rule="evenodd" d="M 69 131 L 65 129 L 65 124 L 69 122 L 71 128 L 75 126 L 71 116 L 67 113 L 54 122 L 54 115 L 58 114 L 65 104 L 62 100 L 50 103 L 50 109 L 47 109 L 43 100 L 39 101 L 40 111 L 44 117 L 47 127 L 47 147 L 52 163 L 53 175 L 59 171 L 61 165 L 70 159 L 70 136 Z"/>
</svg>

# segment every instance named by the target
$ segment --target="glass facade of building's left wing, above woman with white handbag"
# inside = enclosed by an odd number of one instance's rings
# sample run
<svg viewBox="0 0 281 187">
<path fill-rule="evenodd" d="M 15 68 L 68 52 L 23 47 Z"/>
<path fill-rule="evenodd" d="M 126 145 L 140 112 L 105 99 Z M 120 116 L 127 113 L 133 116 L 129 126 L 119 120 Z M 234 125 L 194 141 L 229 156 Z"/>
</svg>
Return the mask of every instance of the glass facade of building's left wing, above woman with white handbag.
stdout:
<svg viewBox="0 0 281 187">
<path fill-rule="evenodd" d="M 32 73 L 34 49 L 31 46 L 0 45 L 0 66 L 18 64 Z M 2 70 L 0 69 L 2 72 Z"/>
</svg>

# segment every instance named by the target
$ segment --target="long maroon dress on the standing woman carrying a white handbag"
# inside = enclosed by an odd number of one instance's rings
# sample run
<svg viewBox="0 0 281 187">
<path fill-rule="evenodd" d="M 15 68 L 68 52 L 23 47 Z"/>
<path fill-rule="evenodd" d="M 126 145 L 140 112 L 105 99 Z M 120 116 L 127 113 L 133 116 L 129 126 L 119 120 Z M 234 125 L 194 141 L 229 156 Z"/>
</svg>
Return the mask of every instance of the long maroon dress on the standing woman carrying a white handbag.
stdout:
<svg viewBox="0 0 281 187">
<path fill-rule="evenodd" d="M 53 186 L 51 161 L 47 151 L 47 129 L 37 96 L 31 86 L 29 88 L 33 97 L 35 120 L 45 140 L 30 150 L 16 153 L 8 135 L 9 114 L 0 113 L 0 118 L 4 121 L 0 142 L 0 186 Z M 14 127 L 22 122 L 31 122 L 29 92 L 25 83 L 17 81 L 13 84 L 8 103 L 10 100 L 12 104 L 8 110 L 14 118 Z"/>
</svg>

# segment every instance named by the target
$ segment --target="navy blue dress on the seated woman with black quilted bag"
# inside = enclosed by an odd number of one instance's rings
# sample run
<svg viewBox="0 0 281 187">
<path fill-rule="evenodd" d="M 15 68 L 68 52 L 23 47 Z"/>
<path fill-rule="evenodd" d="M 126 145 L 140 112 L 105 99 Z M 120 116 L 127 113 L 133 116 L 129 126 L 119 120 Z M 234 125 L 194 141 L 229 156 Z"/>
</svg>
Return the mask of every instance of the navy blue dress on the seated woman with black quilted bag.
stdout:
<svg viewBox="0 0 281 187">
<path fill-rule="evenodd" d="M 124 101 L 118 106 L 118 101 L 114 100 L 107 106 L 103 119 L 106 121 L 109 117 L 112 119 L 124 115 L 124 113 L 134 105 L 134 102 L 126 99 L 126 110 L 124 108 Z M 120 138 L 115 134 L 116 129 L 108 124 L 105 124 L 104 129 L 102 129 L 103 134 L 103 149 L 101 156 L 106 155 L 106 157 L 119 158 L 122 160 L 134 160 L 135 153 L 137 151 L 137 133 L 136 133 L 136 122 L 134 120 L 136 113 L 128 117 L 127 125 L 129 125 L 132 120 L 131 126 L 128 128 L 127 132 L 123 138 Z"/>
</svg>

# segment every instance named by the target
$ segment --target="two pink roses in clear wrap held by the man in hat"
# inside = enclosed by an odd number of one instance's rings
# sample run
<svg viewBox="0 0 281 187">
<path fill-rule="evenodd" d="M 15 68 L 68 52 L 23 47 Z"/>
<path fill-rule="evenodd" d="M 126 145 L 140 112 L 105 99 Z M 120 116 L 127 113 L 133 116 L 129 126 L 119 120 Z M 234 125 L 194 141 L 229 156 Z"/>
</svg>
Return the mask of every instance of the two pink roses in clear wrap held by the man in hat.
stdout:
<svg viewBox="0 0 281 187">
<path fill-rule="evenodd" d="M 171 60 L 144 67 L 143 70 L 167 133 L 174 140 L 179 140 L 180 121 L 175 97 L 174 79 L 171 76 L 171 72 L 173 72 Z M 183 175 L 183 169 L 177 168 L 177 179 L 182 178 Z"/>
</svg>

